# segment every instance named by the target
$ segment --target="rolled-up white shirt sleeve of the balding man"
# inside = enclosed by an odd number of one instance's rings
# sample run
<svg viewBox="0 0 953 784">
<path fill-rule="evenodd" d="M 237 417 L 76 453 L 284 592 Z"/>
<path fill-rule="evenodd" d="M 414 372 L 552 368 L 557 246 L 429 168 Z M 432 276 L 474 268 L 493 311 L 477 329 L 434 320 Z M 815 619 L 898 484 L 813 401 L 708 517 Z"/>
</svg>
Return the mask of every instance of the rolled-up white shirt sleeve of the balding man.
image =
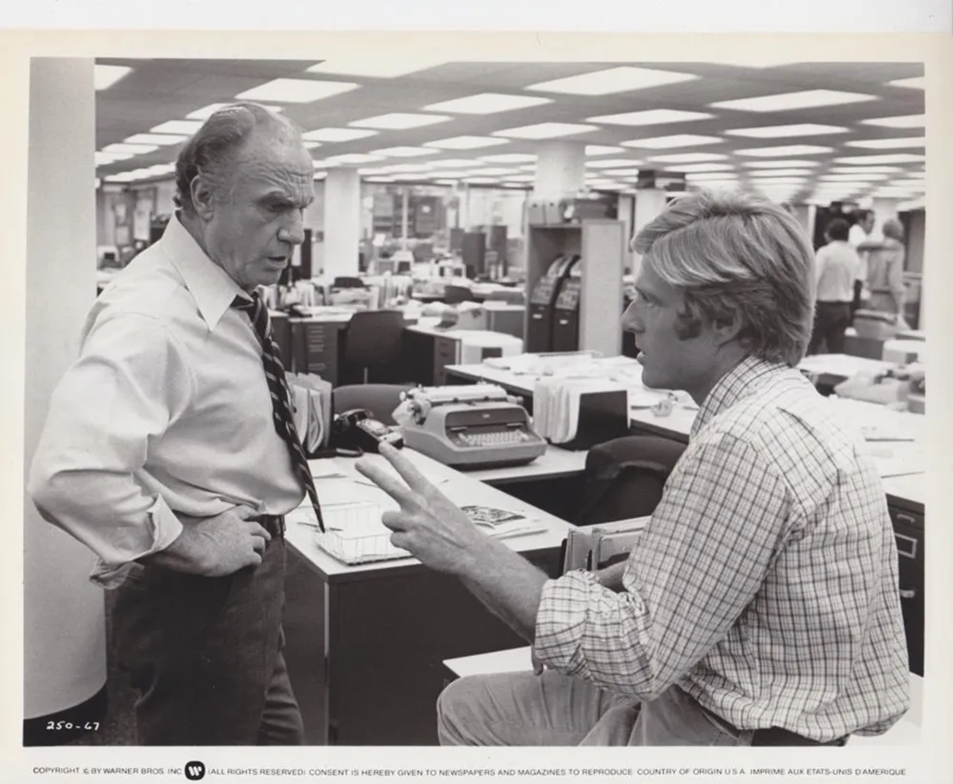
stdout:
<svg viewBox="0 0 953 784">
<path fill-rule="evenodd" d="M 92 327 L 51 396 L 27 490 L 46 520 L 99 556 L 94 582 L 109 587 L 132 560 L 164 550 L 182 532 L 136 473 L 193 383 L 160 321 L 122 314 Z"/>
</svg>

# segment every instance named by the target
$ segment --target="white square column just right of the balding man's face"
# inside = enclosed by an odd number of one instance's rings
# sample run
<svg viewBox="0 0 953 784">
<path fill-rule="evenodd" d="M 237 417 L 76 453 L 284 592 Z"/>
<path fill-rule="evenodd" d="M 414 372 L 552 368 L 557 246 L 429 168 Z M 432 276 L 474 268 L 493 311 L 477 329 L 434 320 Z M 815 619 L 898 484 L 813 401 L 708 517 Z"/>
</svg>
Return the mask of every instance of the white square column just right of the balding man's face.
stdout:
<svg viewBox="0 0 953 784">
<path fill-rule="evenodd" d="M 329 169 L 324 181 L 324 274 L 357 274 L 360 248 L 360 175 L 356 169 Z"/>
</svg>

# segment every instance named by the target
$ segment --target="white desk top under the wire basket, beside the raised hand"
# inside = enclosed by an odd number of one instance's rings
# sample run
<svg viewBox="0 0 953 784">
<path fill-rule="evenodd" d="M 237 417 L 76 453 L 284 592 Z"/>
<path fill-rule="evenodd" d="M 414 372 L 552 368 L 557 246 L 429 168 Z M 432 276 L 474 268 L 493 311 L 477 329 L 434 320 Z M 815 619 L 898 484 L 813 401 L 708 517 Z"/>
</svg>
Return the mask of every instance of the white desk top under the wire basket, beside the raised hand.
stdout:
<svg viewBox="0 0 953 784">
<path fill-rule="evenodd" d="M 517 552 L 526 553 L 558 548 L 563 538 L 565 538 L 566 532 L 571 527 L 569 523 L 559 519 L 555 515 L 545 513 L 536 507 L 519 501 L 512 495 L 508 495 L 507 493 L 497 490 L 495 487 L 484 484 L 476 477 L 456 472 L 454 469 L 448 468 L 424 454 L 420 454 L 411 449 L 405 449 L 404 454 L 406 454 L 414 462 L 416 467 L 425 473 L 431 481 L 436 482 L 440 491 L 446 494 L 457 505 L 480 504 L 483 506 L 497 507 L 510 512 L 521 513 L 528 518 L 543 523 L 547 527 L 545 532 L 530 533 L 502 540 Z M 367 459 L 388 465 L 380 455 L 367 455 Z M 310 461 L 312 472 L 315 474 L 314 484 L 318 496 L 321 495 L 322 484 L 334 481 L 335 487 L 339 490 L 343 482 L 350 480 L 350 484 L 346 486 L 346 492 L 350 494 L 350 497 L 346 499 L 348 502 L 375 501 L 379 499 L 381 491 L 370 484 L 366 484 L 368 480 L 364 479 L 364 477 L 355 471 L 354 464 L 354 458 L 346 457 Z M 332 471 L 344 474 L 344 478 L 322 478 L 322 474 L 326 475 Z M 300 523 L 289 523 L 286 537 L 294 549 L 305 558 L 308 565 L 311 566 L 322 579 L 329 583 L 373 579 L 375 576 L 385 573 L 393 574 L 400 571 L 414 571 L 425 568 L 416 558 L 411 557 L 400 558 L 393 561 L 378 561 L 357 566 L 342 564 L 314 544 L 314 529 Z"/>
</svg>

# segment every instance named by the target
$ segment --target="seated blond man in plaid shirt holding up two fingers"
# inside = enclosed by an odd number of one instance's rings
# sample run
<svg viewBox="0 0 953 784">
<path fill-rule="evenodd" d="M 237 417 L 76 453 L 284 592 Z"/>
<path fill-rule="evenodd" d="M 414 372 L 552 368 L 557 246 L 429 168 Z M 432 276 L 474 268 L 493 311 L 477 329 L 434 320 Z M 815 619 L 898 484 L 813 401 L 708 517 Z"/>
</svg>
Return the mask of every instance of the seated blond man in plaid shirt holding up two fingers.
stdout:
<svg viewBox="0 0 953 784">
<path fill-rule="evenodd" d="M 646 386 L 700 406 L 627 562 L 548 579 L 394 450 L 396 546 L 456 574 L 549 669 L 463 678 L 440 740 L 475 745 L 841 745 L 908 705 L 897 552 L 863 439 L 796 365 L 813 253 L 740 195 L 674 202 L 636 238 Z"/>
</svg>

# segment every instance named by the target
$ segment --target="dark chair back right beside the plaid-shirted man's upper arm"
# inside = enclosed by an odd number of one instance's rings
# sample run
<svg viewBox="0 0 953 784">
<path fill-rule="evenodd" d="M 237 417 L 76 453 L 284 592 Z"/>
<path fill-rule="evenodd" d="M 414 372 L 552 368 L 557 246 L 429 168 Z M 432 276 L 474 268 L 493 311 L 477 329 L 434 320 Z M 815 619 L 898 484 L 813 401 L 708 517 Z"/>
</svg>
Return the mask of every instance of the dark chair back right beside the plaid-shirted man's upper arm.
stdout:
<svg viewBox="0 0 953 784">
<path fill-rule="evenodd" d="M 626 435 L 597 444 L 586 455 L 576 524 L 590 526 L 653 513 L 685 447 L 654 435 Z"/>
</svg>

